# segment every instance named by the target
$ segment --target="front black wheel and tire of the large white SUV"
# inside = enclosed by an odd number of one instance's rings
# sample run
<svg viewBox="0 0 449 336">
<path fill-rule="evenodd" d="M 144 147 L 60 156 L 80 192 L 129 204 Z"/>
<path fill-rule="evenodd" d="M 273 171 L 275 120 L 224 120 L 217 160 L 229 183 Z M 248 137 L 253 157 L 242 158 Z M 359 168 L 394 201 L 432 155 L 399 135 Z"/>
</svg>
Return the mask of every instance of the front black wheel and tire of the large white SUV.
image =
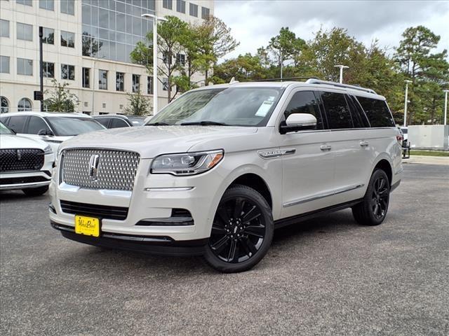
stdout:
<svg viewBox="0 0 449 336">
<path fill-rule="evenodd" d="M 220 272 L 244 272 L 267 254 L 273 233 L 267 200 L 253 188 L 232 186 L 218 204 L 204 258 Z"/>
</svg>

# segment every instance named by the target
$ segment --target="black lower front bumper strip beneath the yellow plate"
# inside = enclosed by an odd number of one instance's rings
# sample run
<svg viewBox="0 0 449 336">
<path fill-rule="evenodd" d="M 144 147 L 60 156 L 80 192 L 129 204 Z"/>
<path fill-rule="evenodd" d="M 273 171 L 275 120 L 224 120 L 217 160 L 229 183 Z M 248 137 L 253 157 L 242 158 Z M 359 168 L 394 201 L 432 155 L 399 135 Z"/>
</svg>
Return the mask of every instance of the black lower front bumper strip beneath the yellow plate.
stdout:
<svg viewBox="0 0 449 336">
<path fill-rule="evenodd" d="M 63 237 L 80 243 L 156 255 L 203 255 L 205 246 L 208 244 L 208 239 L 175 241 L 164 236 L 117 235 L 107 232 L 102 232 L 100 237 L 90 237 L 78 235 L 73 227 L 54 221 L 51 221 L 51 226 L 60 230 Z"/>
</svg>

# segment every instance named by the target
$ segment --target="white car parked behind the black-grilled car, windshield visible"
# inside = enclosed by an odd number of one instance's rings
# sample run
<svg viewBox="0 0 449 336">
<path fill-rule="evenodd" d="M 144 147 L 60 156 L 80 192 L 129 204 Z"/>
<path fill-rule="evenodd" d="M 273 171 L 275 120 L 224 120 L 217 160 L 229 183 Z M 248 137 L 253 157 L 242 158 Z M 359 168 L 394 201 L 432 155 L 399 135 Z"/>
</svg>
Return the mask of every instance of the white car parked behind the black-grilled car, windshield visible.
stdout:
<svg viewBox="0 0 449 336">
<path fill-rule="evenodd" d="M 103 125 L 83 113 L 4 113 L 0 121 L 22 137 L 46 141 L 55 153 L 62 141 L 79 134 L 105 130 Z"/>
</svg>

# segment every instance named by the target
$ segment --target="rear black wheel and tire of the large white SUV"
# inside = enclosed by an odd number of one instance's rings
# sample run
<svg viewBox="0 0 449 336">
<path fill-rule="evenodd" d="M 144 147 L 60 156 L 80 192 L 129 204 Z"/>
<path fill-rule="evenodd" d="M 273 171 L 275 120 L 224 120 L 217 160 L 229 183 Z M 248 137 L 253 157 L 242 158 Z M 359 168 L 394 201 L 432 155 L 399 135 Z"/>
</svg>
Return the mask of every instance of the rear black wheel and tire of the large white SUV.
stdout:
<svg viewBox="0 0 449 336">
<path fill-rule="evenodd" d="M 389 198 L 388 176 L 382 169 L 376 169 L 371 175 L 363 201 L 352 207 L 354 219 L 361 225 L 380 225 L 387 216 Z"/>
</svg>

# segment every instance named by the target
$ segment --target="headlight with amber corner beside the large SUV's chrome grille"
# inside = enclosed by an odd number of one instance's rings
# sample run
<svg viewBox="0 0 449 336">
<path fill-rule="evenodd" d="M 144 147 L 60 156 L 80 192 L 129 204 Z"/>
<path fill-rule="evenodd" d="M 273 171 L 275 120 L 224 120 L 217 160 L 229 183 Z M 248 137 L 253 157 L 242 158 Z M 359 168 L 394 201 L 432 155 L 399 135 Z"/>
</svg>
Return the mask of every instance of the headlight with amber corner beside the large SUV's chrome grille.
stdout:
<svg viewBox="0 0 449 336">
<path fill-rule="evenodd" d="M 222 150 L 217 150 L 159 155 L 154 158 L 149 172 L 176 176 L 201 174 L 215 167 L 224 154 Z"/>
</svg>

